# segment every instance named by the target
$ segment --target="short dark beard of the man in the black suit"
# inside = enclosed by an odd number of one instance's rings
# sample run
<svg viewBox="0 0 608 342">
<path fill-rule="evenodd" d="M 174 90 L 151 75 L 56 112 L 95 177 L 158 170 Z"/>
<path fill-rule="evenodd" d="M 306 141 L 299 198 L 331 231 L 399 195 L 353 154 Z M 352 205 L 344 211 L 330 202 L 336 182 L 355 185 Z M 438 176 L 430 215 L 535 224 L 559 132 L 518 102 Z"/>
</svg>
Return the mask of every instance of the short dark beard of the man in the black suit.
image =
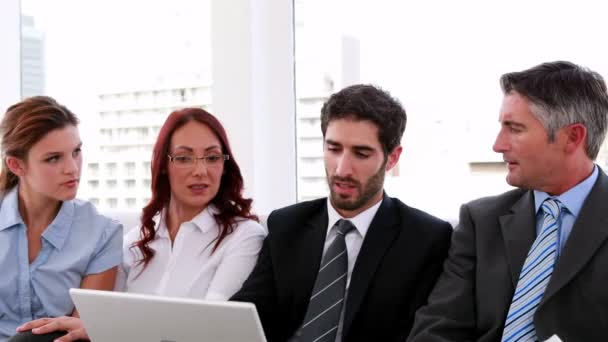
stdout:
<svg viewBox="0 0 608 342">
<path fill-rule="evenodd" d="M 331 204 L 336 209 L 352 211 L 365 207 L 379 191 L 382 191 L 386 171 L 385 164 L 383 164 L 380 170 L 372 175 L 364 184 L 350 177 L 330 177 L 329 174 L 327 174 L 327 169 L 325 170 L 325 174 L 327 176 L 327 183 L 329 184 Z M 355 187 L 358 196 L 349 198 L 335 193 L 333 184 L 336 181 L 347 183 L 348 185 Z"/>
</svg>

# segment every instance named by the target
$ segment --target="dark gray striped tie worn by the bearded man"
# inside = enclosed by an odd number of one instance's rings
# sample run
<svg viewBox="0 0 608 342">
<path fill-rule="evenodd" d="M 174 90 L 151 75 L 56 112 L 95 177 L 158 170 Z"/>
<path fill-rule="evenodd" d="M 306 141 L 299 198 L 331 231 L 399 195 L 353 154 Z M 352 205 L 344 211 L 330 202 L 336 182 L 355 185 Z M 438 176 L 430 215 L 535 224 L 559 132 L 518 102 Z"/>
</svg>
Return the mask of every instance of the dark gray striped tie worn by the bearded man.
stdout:
<svg viewBox="0 0 608 342">
<path fill-rule="evenodd" d="M 355 228 L 348 220 L 339 220 L 336 225 L 337 235 L 321 261 L 304 323 L 300 328 L 300 341 L 336 340 L 348 271 L 344 236 Z"/>
</svg>

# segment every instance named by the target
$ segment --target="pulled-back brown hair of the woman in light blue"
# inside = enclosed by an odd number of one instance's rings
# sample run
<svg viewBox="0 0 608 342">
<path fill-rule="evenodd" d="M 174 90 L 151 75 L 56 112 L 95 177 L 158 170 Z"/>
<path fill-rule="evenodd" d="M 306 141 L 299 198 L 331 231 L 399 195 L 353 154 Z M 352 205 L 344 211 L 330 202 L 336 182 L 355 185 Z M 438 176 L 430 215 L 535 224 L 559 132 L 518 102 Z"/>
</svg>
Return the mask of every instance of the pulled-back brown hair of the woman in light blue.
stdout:
<svg viewBox="0 0 608 342">
<path fill-rule="evenodd" d="M 0 192 L 5 193 L 19 182 L 6 165 L 6 157 L 26 160 L 27 153 L 52 130 L 77 126 L 78 118 L 65 106 L 48 96 L 29 97 L 8 108 L 0 123 L 2 173 Z"/>
</svg>

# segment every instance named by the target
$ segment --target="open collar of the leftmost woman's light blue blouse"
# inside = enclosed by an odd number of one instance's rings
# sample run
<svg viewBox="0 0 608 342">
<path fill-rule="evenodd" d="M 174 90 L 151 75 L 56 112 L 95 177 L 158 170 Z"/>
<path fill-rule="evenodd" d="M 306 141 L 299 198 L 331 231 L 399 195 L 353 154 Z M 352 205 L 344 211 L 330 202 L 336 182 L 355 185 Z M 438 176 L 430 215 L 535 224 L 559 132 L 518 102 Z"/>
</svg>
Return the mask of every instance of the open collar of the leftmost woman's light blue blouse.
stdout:
<svg viewBox="0 0 608 342">
<path fill-rule="evenodd" d="M 25 227 L 21 213 L 19 212 L 19 186 L 11 189 L 2 199 L 0 204 L 0 217 L 3 218 L 0 223 L 0 231 L 22 225 Z M 74 203 L 72 201 L 63 201 L 59 212 L 55 219 L 44 230 L 42 237 L 48 241 L 56 249 L 61 249 L 65 244 L 70 229 L 72 227 L 74 217 Z"/>
</svg>

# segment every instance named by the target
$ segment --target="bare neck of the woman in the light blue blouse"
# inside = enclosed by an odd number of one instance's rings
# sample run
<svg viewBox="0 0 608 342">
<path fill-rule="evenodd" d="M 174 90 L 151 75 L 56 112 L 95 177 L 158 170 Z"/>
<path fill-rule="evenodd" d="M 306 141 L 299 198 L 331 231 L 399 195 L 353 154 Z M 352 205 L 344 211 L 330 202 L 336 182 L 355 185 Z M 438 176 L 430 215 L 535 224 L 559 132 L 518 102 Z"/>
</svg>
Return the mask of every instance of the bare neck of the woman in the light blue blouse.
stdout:
<svg viewBox="0 0 608 342">
<path fill-rule="evenodd" d="M 19 185 L 19 213 L 28 230 L 43 231 L 57 216 L 61 201 L 43 196 Z"/>
</svg>

